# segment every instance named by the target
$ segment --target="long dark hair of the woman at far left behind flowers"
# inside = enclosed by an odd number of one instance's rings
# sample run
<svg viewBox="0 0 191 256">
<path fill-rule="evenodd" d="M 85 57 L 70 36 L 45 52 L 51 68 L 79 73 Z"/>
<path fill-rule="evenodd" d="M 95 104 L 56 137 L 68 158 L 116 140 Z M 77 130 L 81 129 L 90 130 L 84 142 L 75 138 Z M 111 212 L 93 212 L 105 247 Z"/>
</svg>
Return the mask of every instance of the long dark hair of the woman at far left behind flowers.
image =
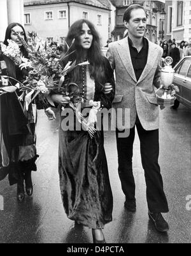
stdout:
<svg viewBox="0 0 191 256">
<path fill-rule="evenodd" d="M 24 27 L 21 24 L 17 23 L 17 22 L 13 22 L 10 25 L 8 25 L 8 27 L 6 29 L 5 38 L 4 38 L 4 45 L 8 45 L 7 40 L 11 39 L 11 31 L 12 31 L 13 27 L 16 27 L 17 25 L 20 26 L 22 28 L 22 30 L 24 31 L 24 39 L 25 39 L 25 42 L 27 43 L 27 36 L 26 36 Z M 24 57 L 26 57 L 26 58 L 28 57 L 28 53 L 25 50 L 24 46 L 20 47 L 20 51 L 24 54 Z M 10 60 L 6 56 L 5 56 L 4 59 L 6 60 L 6 65 L 7 65 L 7 68 L 8 68 L 9 75 L 12 76 L 13 78 L 15 78 L 15 76 L 16 76 L 16 74 L 15 74 L 15 64 L 13 63 L 12 60 Z"/>
</svg>

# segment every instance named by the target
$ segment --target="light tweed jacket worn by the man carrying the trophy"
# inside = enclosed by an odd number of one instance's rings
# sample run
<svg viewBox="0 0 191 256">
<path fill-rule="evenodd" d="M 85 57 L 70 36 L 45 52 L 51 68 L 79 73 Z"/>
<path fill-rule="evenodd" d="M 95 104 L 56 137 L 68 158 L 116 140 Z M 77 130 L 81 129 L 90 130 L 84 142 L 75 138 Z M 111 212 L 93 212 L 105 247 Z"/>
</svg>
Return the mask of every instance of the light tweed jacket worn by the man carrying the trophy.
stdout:
<svg viewBox="0 0 191 256">
<path fill-rule="evenodd" d="M 163 50 L 159 45 L 148 41 L 148 59 L 139 80 L 132 67 L 128 39 L 110 43 L 107 57 L 115 69 L 116 92 L 113 108 L 129 108 L 132 128 L 136 122 L 136 113 L 143 128 L 147 131 L 159 129 L 159 106 L 155 95 L 155 87 L 160 86 L 160 59 Z M 124 122 L 124 115 L 122 118 Z M 122 128 L 119 127 L 118 128 Z"/>
</svg>

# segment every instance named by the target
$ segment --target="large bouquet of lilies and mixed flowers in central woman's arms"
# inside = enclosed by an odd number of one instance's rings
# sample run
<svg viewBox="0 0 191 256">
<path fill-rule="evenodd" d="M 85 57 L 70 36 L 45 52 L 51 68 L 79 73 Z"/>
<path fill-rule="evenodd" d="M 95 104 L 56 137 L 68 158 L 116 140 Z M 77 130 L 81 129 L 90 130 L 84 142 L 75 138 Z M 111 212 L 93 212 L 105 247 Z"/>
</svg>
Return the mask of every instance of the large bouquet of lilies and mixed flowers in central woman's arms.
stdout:
<svg viewBox="0 0 191 256">
<path fill-rule="evenodd" d="M 88 65 L 89 62 L 86 61 L 76 64 L 76 61 L 73 63 L 69 61 L 63 68 L 60 62 L 73 53 L 69 53 L 71 46 L 67 46 L 67 52 L 63 57 L 60 57 L 54 53 L 51 48 L 48 48 L 46 42 L 38 38 L 37 34 L 34 32 L 29 33 L 29 44 L 27 44 L 23 38 L 20 38 L 19 34 L 17 34 L 17 36 L 29 55 L 28 59 L 20 55 L 18 45 L 11 40 L 8 41 L 8 46 L 1 43 L 1 49 L 4 55 L 10 57 L 20 69 L 27 69 L 28 75 L 22 83 L 15 80 L 15 78 L 1 76 L 0 82 L 3 81 L 3 83 L 1 83 L 2 86 L 0 84 L 0 96 L 7 92 L 16 92 L 16 90 L 19 90 L 22 94 L 18 99 L 24 101 L 25 110 L 28 110 L 29 104 L 38 95 L 41 101 L 48 100 L 50 104 L 53 104 L 50 97 L 48 97 L 51 90 L 69 96 L 67 86 L 64 85 L 65 76 L 77 66 Z M 74 40 L 72 45 L 73 43 Z M 17 84 L 12 85 L 11 80 L 14 80 Z M 8 82 L 11 86 L 8 86 Z M 80 101 L 80 97 L 78 101 Z M 80 117 L 80 122 L 87 127 L 87 131 L 92 138 L 96 131 L 94 127 L 88 124 L 87 120 L 81 116 L 80 111 L 73 103 L 70 103 L 70 106 L 73 108 L 76 115 Z"/>
</svg>

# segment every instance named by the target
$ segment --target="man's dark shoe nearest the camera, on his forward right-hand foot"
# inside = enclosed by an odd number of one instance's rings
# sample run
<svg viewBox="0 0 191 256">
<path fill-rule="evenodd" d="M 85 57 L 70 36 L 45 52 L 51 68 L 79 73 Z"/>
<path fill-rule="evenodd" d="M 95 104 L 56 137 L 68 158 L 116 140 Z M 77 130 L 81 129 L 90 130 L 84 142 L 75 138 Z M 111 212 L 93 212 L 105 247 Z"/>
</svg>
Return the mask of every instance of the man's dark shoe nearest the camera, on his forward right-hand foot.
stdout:
<svg viewBox="0 0 191 256">
<path fill-rule="evenodd" d="M 151 213 L 149 211 L 148 216 L 150 220 L 152 220 L 153 224 L 155 224 L 157 231 L 167 232 L 169 230 L 169 225 L 166 220 L 164 220 L 161 213 Z"/>
</svg>

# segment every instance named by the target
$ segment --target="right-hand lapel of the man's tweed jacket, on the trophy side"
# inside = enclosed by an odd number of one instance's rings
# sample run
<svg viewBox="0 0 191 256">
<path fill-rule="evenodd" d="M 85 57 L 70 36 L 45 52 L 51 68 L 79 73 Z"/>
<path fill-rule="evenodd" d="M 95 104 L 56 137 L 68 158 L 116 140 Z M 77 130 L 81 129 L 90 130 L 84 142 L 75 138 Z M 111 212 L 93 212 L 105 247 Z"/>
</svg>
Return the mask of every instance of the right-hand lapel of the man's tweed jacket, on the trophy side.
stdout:
<svg viewBox="0 0 191 256">
<path fill-rule="evenodd" d="M 155 52 L 156 48 L 157 47 L 155 47 L 155 45 L 153 45 L 152 43 L 150 43 L 150 41 L 148 41 L 148 58 L 147 58 L 145 69 L 143 70 L 143 73 L 141 74 L 138 83 L 141 82 L 143 79 L 145 79 L 148 73 L 150 73 L 150 70 L 153 68 L 156 62 L 156 59 L 158 57 L 158 55 L 156 55 L 156 52 Z"/>
</svg>

